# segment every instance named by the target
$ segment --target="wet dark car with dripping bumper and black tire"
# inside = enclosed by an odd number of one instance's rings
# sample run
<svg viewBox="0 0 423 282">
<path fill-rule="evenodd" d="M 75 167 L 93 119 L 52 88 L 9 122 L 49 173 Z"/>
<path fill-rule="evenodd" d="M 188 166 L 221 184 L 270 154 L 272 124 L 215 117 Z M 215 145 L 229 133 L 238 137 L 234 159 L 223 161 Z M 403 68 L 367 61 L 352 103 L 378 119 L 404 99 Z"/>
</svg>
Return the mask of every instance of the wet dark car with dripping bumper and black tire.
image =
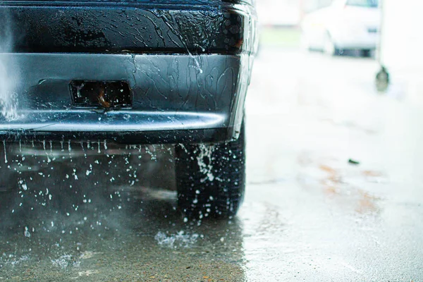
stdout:
<svg viewBox="0 0 423 282">
<path fill-rule="evenodd" d="M 0 12 L 18 81 L 1 101 L 4 140 L 176 144 L 180 209 L 238 211 L 252 0 L 3 0 Z"/>
</svg>

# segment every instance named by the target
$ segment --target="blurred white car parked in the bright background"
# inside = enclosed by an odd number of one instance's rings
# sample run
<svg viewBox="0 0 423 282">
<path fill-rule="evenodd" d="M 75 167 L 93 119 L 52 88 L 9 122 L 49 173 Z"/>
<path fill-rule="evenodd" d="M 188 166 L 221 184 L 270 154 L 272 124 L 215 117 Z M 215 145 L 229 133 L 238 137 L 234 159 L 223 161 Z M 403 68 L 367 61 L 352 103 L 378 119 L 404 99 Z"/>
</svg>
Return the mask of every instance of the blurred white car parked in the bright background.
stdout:
<svg viewBox="0 0 423 282">
<path fill-rule="evenodd" d="M 380 26 L 379 0 L 335 0 L 305 16 L 302 44 L 330 55 L 360 50 L 369 56 L 379 44 Z"/>
</svg>

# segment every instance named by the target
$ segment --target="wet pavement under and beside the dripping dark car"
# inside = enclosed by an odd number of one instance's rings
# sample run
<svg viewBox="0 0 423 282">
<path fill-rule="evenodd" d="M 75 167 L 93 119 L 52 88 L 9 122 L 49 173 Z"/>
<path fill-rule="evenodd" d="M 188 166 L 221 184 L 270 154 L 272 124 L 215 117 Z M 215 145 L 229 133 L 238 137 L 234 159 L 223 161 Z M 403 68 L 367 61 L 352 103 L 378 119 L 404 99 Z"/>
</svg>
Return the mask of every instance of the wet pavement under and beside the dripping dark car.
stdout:
<svg viewBox="0 0 423 282">
<path fill-rule="evenodd" d="M 423 87 L 376 71 L 261 50 L 230 221 L 176 210 L 169 147 L 6 143 L 0 281 L 423 280 Z"/>
</svg>

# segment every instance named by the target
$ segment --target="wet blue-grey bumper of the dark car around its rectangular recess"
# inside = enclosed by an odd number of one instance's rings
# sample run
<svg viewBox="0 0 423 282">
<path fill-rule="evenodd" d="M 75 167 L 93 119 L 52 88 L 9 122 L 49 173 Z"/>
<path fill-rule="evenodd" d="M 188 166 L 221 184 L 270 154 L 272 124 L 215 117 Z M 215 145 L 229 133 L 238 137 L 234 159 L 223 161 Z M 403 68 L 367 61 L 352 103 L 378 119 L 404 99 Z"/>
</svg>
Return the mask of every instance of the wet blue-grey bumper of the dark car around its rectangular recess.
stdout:
<svg viewBox="0 0 423 282">
<path fill-rule="evenodd" d="M 242 121 L 246 55 L 2 56 L 25 78 L 16 88 L 24 94 L 11 100 L 16 113 L 0 117 L 0 135 L 7 137 L 221 142 L 235 137 Z M 69 86 L 73 80 L 125 81 L 132 107 L 75 108 Z"/>
</svg>

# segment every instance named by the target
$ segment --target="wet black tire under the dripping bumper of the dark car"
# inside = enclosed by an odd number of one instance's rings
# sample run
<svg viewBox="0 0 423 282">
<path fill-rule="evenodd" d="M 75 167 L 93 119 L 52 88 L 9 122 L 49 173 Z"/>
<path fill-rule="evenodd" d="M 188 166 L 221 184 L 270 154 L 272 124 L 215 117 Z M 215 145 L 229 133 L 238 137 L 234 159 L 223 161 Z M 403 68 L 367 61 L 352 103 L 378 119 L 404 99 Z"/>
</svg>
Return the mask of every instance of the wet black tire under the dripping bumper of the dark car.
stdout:
<svg viewBox="0 0 423 282">
<path fill-rule="evenodd" d="M 245 194 L 245 125 L 233 142 L 176 145 L 176 187 L 189 218 L 235 216 Z"/>
</svg>

